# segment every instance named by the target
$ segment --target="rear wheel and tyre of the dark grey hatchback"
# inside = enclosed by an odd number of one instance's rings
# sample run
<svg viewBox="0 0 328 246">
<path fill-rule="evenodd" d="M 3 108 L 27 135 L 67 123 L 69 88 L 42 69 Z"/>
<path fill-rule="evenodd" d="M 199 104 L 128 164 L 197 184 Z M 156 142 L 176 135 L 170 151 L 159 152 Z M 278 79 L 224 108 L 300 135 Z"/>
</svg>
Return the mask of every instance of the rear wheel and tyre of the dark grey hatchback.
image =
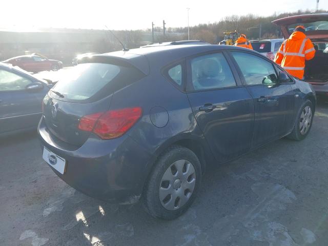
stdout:
<svg viewBox="0 0 328 246">
<path fill-rule="evenodd" d="M 148 179 L 142 202 L 156 217 L 172 220 L 193 203 L 201 183 L 201 166 L 194 152 L 173 146 L 159 156 Z"/>
</svg>

